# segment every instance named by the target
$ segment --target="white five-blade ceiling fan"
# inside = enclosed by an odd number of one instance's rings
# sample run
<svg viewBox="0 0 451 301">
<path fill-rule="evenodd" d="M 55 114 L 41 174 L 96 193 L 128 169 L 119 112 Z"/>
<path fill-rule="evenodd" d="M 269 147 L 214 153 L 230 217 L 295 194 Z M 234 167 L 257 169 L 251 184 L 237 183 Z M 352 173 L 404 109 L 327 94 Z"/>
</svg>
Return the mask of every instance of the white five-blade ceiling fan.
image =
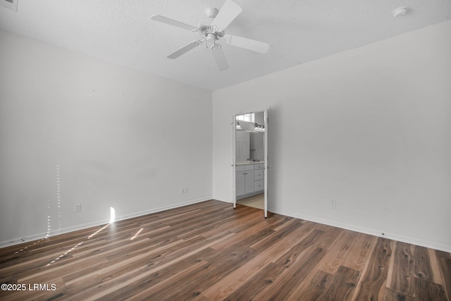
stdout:
<svg viewBox="0 0 451 301">
<path fill-rule="evenodd" d="M 233 20 L 235 20 L 235 18 L 241 13 L 241 11 L 241 6 L 231 0 L 226 0 L 223 7 L 221 8 L 221 11 L 218 11 L 216 8 L 206 8 L 205 12 L 208 18 L 201 20 L 197 27 L 159 15 L 154 15 L 151 17 L 151 19 L 159 21 L 161 23 L 180 27 L 185 30 L 190 30 L 192 32 L 199 32 L 201 36 L 201 39 L 192 41 L 189 44 L 186 44 L 184 47 L 175 50 L 172 54 L 169 54 L 169 59 L 177 59 L 182 54 L 187 53 L 191 49 L 194 49 L 195 47 L 205 42 L 205 47 L 210 47 L 219 70 L 226 70 L 228 68 L 228 63 L 223 49 L 221 48 L 221 44 L 217 43 L 219 40 L 225 42 L 226 44 L 252 51 L 257 51 L 261 54 L 266 54 L 269 49 L 269 45 L 264 42 L 255 41 L 254 39 L 247 39 L 245 37 L 237 37 L 235 35 L 224 34 L 226 27 L 230 23 L 232 23 Z"/>
</svg>

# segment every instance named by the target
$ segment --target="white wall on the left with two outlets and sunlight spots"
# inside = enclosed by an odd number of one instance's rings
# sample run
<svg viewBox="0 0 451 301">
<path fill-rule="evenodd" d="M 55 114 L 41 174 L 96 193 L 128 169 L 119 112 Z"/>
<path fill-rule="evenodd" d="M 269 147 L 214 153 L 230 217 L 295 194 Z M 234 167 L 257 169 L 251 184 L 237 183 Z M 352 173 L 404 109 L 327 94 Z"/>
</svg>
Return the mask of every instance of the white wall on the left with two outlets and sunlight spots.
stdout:
<svg viewBox="0 0 451 301">
<path fill-rule="evenodd" d="M 0 245 L 211 198 L 211 92 L 6 32 L 0 66 Z"/>
</svg>

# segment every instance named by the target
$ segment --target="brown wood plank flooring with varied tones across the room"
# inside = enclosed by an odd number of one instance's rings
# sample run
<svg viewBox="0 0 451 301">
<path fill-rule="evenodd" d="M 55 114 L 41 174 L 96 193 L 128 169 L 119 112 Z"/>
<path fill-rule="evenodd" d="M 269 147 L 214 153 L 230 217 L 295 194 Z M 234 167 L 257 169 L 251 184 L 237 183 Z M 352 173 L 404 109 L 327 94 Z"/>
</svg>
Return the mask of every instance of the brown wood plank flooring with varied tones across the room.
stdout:
<svg viewBox="0 0 451 301">
<path fill-rule="evenodd" d="M 0 300 L 450 301 L 451 254 L 211 200 L 5 247 L 0 282 Z"/>
</svg>

